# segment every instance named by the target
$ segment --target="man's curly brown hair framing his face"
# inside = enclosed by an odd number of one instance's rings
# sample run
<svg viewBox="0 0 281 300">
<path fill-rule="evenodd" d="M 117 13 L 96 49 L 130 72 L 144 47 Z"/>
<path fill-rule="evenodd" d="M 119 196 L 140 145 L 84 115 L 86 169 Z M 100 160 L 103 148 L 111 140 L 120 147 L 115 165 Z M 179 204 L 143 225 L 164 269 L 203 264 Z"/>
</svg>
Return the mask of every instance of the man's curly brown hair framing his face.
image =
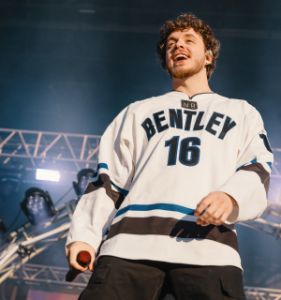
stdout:
<svg viewBox="0 0 281 300">
<path fill-rule="evenodd" d="M 193 14 L 181 14 L 175 21 L 167 21 L 160 30 L 160 40 L 157 42 L 157 55 L 164 70 L 166 70 L 166 43 L 168 36 L 174 32 L 193 28 L 200 34 L 206 50 L 211 50 L 213 54 L 212 63 L 207 65 L 207 78 L 211 78 L 216 66 L 216 60 L 219 56 L 220 42 L 215 38 L 211 27 L 202 20 L 197 19 Z"/>
</svg>

